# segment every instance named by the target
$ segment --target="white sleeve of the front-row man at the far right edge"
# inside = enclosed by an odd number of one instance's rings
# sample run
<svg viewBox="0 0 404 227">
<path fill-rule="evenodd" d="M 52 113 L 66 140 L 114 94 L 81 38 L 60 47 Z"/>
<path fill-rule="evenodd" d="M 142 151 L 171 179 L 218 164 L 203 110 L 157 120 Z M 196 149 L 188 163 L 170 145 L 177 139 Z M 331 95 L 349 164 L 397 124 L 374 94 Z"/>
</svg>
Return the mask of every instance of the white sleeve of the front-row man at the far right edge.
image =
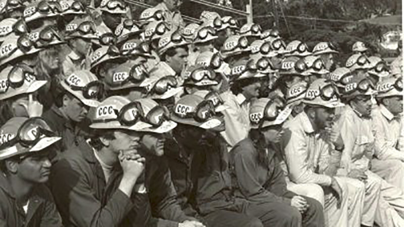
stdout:
<svg viewBox="0 0 404 227">
<path fill-rule="evenodd" d="M 373 129 L 376 132 L 375 135 L 375 155 L 381 160 L 386 159 L 398 159 L 404 161 L 404 153 L 395 149 L 392 144 L 385 139 L 383 123 L 379 119 L 382 116 L 376 116 L 372 118 Z"/>
</svg>

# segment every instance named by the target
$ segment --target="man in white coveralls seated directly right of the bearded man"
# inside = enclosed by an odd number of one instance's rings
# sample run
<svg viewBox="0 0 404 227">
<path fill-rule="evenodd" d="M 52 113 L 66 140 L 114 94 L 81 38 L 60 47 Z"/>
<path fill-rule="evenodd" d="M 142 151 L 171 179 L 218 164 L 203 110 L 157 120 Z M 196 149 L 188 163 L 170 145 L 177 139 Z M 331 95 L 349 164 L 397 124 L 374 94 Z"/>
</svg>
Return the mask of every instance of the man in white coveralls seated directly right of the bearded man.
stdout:
<svg viewBox="0 0 404 227">
<path fill-rule="evenodd" d="M 372 87 L 369 78 L 362 74 L 354 75 L 345 85 L 343 97 L 347 105 L 336 125 L 344 145 L 338 173 L 365 183 L 363 224 L 372 226 L 374 220 L 383 226 L 402 226 L 404 194 L 400 188 L 387 183 L 386 180 L 371 172 L 373 155 L 378 155 L 375 153 L 375 129 L 372 127 L 370 115 L 371 98 L 375 93 Z M 372 187 L 380 190 L 378 198 L 372 199 L 376 201 L 375 207 L 370 202 L 370 196 L 373 194 Z"/>
</svg>

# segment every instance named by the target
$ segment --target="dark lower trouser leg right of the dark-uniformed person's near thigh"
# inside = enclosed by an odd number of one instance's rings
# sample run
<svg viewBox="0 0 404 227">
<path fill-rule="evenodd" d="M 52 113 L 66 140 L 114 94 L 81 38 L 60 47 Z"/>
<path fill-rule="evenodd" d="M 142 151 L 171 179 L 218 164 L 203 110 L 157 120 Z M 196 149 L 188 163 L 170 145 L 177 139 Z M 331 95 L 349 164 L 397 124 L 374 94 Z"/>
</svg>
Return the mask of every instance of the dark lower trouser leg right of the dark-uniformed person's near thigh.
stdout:
<svg viewBox="0 0 404 227">
<path fill-rule="evenodd" d="M 313 198 L 303 196 L 309 208 L 302 214 L 302 225 L 304 227 L 323 227 L 324 226 L 324 211 L 321 203 Z"/>
</svg>

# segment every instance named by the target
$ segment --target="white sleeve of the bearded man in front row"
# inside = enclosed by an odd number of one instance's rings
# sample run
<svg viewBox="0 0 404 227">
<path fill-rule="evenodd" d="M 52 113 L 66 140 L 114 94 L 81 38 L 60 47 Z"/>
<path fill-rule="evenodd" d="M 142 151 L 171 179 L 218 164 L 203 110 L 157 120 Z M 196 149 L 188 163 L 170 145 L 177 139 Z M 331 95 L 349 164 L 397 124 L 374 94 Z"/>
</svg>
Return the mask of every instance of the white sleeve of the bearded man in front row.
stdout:
<svg viewBox="0 0 404 227">
<path fill-rule="evenodd" d="M 321 186 L 330 186 L 331 177 L 316 174 L 309 166 L 309 148 L 304 133 L 303 131 L 292 132 L 290 129 L 285 129 L 282 136 L 289 178 L 296 184 L 315 183 Z"/>
</svg>

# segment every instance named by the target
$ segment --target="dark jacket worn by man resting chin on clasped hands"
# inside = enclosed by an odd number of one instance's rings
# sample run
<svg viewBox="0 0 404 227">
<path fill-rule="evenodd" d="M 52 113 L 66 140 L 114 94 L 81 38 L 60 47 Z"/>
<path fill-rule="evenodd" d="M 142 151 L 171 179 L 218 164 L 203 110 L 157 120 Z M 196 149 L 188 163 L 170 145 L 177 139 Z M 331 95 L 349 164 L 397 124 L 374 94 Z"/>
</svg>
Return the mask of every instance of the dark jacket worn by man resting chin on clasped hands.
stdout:
<svg viewBox="0 0 404 227">
<path fill-rule="evenodd" d="M 88 144 L 80 150 L 70 149 L 52 168 L 52 191 L 66 226 L 178 226 L 176 221 L 151 217 L 147 193 L 133 192 L 129 198 L 118 189 L 123 175 L 119 164 L 106 184 L 93 152 Z M 164 210 L 162 216 L 172 215 L 173 219 L 181 220 L 185 217 L 174 208 L 170 210 L 175 203 L 165 203 L 163 193 L 152 198 L 155 203 L 165 204 L 160 207 Z"/>
</svg>

